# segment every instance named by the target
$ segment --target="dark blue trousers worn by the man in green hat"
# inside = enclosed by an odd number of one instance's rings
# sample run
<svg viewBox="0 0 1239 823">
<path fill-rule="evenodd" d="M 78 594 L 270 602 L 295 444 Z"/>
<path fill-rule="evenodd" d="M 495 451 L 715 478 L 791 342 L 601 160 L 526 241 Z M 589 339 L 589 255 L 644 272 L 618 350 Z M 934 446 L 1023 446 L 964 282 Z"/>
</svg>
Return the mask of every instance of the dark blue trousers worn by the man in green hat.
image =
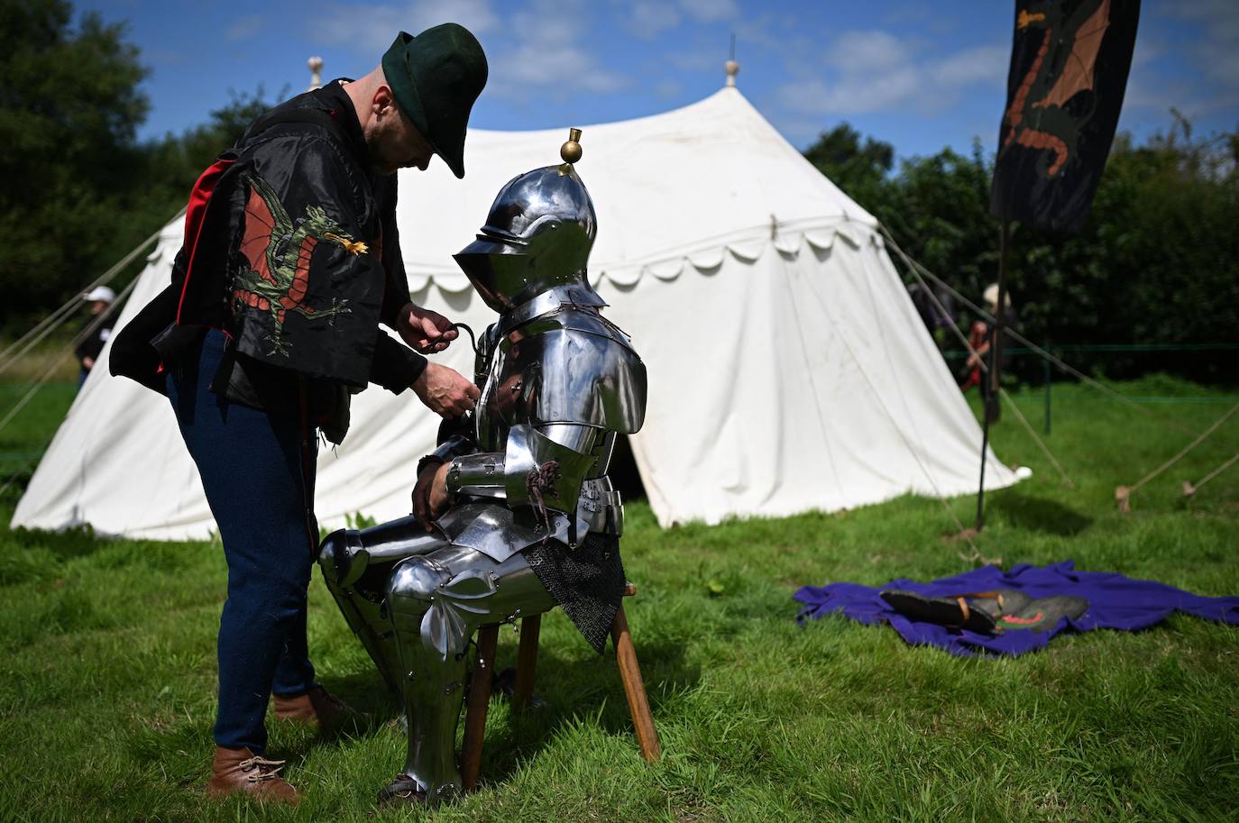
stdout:
<svg viewBox="0 0 1239 823">
<path fill-rule="evenodd" d="M 169 373 L 167 393 L 228 561 L 216 744 L 260 754 L 271 693 L 315 685 L 306 590 L 318 543 L 317 441 L 297 414 L 269 414 L 212 392 L 223 352 L 223 333 L 208 332 Z"/>
</svg>

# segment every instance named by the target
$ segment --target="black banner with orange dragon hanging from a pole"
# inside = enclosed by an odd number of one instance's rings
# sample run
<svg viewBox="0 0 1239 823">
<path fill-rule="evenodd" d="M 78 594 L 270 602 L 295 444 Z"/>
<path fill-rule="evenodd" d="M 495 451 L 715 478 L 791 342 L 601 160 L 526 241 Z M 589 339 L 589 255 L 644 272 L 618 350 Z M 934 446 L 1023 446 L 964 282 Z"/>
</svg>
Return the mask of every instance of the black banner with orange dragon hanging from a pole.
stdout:
<svg viewBox="0 0 1239 823">
<path fill-rule="evenodd" d="M 1139 0 L 1016 0 L 990 211 L 1061 232 L 1088 217 L 1136 43 Z"/>
</svg>

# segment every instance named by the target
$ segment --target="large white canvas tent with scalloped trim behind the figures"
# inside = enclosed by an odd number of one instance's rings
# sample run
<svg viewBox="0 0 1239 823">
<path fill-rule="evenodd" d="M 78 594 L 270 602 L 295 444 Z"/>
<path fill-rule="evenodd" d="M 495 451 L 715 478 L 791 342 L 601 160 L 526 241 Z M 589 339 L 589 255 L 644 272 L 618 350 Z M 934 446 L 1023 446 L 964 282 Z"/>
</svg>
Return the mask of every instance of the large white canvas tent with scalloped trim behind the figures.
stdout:
<svg viewBox="0 0 1239 823">
<path fill-rule="evenodd" d="M 471 131 L 463 181 L 401 172 L 401 249 L 416 302 L 481 331 L 493 312 L 450 255 L 499 187 L 558 161 L 565 129 Z M 655 117 L 586 126 L 591 279 L 649 369 L 633 455 L 659 523 L 784 516 L 904 492 L 975 491 L 980 429 L 887 257 L 876 221 L 823 177 L 735 88 Z M 167 281 L 169 224 L 120 317 Z M 440 356 L 470 373 L 463 341 Z M 372 387 L 320 455 L 323 526 L 409 511 L 437 419 Z M 989 487 L 1015 481 L 992 454 Z M 261 490 L 254 490 L 261 498 Z M 14 526 L 198 538 L 214 523 L 166 400 L 95 369 Z"/>
</svg>

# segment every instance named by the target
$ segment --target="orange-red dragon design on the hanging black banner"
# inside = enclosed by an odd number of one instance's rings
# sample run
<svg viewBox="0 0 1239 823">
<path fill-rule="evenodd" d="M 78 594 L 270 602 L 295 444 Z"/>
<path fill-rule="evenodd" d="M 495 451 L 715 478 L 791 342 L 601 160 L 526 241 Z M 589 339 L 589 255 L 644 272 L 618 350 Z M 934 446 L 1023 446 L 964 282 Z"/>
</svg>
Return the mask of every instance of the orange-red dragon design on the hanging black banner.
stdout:
<svg viewBox="0 0 1239 823">
<path fill-rule="evenodd" d="M 1075 154 L 1084 117 L 1066 110 L 1067 102 L 1093 89 L 1097 56 L 1110 27 L 1110 0 L 1085 0 L 1066 20 L 1062 4 L 1044 2 L 1036 11 L 1020 11 L 1016 27 L 1043 29 L 1041 48 L 1002 117 L 1007 128 L 1000 154 L 1012 145 L 1052 152 L 1043 155 L 1038 171 L 1053 178 Z M 1094 107 L 1095 108 L 1095 107 Z"/>
</svg>

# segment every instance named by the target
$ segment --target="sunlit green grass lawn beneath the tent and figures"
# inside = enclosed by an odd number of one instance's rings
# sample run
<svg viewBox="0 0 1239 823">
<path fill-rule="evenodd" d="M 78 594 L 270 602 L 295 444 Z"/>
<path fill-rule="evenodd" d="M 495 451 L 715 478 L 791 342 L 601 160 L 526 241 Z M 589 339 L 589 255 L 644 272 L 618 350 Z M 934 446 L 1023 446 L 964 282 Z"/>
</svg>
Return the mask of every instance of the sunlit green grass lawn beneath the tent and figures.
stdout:
<svg viewBox="0 0 1239 823">
<path fill-rule="evenodd" d="M 1209 395 L 1147 379 L 1130 395 Z M 1041 394 L 1017 395 L 1041 425 Z M 50 395 L 16 440 L 37 450 L 63 413 Z M 1219 403 L 1149 407 L 1199 431 Z M 41 423 L 40 423 L 41 421 Z M 42 426 L 42 428 L 41 428 Z M 1239 594 L 1239 466 L 1183 498 L 1239 450 L 1239 418 L 1142 488 L 1191 440 L 1074 385 L 1054 390 L 1051 447 L 1063 487 L 1010 414 L 999 455 L 1036 469 L 991 493 L 985 558 L 1152 578 Z M 5 466 L 7 469 L 7 466 Z M 16 490 L 4 496 L 11 513 Z M 953 511 L 970 523 L 975 502 Z M 1056 640 L 1017 659 L 957 659 L 840 617 L 795 623 L 803 584 L 929 579 L 973 565 L 934 500 L 836 514 L 659 530 L 629 507 L 627 609 L 664 757 L 637 754 L 610 653 L 561 614 L 544 621 L 538 693 L 513 718 L 492 704 L 482 791 L 427 816 L 373 812 L 401 764 L 395 709 L 315 580 L 320 679 L 373 713 L 320 739 L 269 721 L 271 755 L 306 790 L 296 809 L 202 792 L 214 710 L 218 545 L 0 532 L 0 819 L 9 821 L 1224 821 L 1239 807 L 1239 627 L 1191 617 L 1140 633 Z M 509 664 L 515 633 L 501 635 Z"/>
</svg>

